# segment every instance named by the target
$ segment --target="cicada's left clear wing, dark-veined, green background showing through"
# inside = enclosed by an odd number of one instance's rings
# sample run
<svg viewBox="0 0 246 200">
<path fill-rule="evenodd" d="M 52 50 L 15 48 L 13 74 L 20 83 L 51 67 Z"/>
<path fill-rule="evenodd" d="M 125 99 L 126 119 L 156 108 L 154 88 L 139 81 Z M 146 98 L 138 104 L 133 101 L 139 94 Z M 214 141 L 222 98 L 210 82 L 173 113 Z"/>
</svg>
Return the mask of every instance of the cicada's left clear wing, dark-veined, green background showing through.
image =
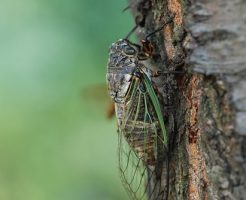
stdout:
<svg viewBox="0 0 246 200">
<path fill-rule="evenodd" d="M 124 105 L 123 117 L 119 123 L 119 169 L 124 187 L 132 199 L 147 199 L 147 167 L 137 154 L 135 145 L 138 141 L 137 127 L 140 115 L 141 94 L 139 82 L 133 81 L 128 93 L 128 104 Z"/>
</svg>

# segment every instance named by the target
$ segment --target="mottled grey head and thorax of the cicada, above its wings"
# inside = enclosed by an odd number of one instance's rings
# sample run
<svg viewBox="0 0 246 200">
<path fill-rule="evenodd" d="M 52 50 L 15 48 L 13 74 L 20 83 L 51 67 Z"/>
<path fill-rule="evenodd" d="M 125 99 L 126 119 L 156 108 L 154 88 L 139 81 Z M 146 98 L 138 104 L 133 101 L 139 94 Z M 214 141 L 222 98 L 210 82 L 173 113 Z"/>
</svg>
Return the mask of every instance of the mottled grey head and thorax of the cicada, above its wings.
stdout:
<svg viewBox="0 0 246 200">
<path fill-rule="evenodd" d="M 138 48 L 126 39 L 113 43 L 109 49 L 107 83 L 111 98 L 125 103 L 132 74 L 138 65 Z"/>
</svg>

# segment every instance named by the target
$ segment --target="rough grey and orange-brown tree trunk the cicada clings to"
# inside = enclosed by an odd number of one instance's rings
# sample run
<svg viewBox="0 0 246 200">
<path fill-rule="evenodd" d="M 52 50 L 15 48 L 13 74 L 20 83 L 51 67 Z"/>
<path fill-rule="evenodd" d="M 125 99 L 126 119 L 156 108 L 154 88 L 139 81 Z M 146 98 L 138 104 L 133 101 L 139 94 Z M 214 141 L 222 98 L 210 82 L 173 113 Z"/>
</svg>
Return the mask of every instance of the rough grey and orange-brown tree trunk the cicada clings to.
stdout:
<svg viewBox="0 0 246 200">
<path fill-rule="evenodd" d="M 168 199 L 246 199 L 246 1 L 130 5 L 140 38 L 172 21 L 151 38 L 152 66 L 187 71 L 154 79 L 172 141 Z"/>
</svg>

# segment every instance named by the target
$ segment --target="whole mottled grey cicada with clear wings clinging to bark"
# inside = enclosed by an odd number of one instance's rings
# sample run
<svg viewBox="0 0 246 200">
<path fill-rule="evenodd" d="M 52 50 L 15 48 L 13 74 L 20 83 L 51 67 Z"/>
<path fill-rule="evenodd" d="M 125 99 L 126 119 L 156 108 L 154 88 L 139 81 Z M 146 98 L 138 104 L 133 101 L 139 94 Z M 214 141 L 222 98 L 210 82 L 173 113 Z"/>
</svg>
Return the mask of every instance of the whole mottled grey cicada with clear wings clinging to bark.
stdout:
<svg viewBox="0 0 246 200">
<path fill-rule="evenodd" d="M 152 51 L 151 46 L 128 39 L 113 43 L 106 75 L 118 123 L 120 175 L 134 200 L 163 195 L 161 183 L 153 186 L 151 179 L 160 152 L 168 148 L 161 106 L 151 81 L 156 73 L 144 63 L 150 56 L 148 50 Z"/>
</svg>

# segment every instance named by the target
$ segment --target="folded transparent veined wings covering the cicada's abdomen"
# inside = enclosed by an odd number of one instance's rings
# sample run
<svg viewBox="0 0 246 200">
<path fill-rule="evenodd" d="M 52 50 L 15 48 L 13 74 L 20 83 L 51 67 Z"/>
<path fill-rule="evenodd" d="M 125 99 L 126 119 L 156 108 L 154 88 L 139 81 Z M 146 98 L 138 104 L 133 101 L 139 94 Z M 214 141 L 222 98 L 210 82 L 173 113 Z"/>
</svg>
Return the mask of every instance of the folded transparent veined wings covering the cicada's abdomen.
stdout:
<svg viewBox="0 0 246 200">
<path fill-rule="evenodd" d="M 155 199 L 163 195 L 161 181 L 153 185 L 151 180 L 158 152 L 167 144 L 160 105 L 146 75 L 132 81 L 126 98 L 118 131 L 121 179 L 132 199 Z"/>
</svg>

